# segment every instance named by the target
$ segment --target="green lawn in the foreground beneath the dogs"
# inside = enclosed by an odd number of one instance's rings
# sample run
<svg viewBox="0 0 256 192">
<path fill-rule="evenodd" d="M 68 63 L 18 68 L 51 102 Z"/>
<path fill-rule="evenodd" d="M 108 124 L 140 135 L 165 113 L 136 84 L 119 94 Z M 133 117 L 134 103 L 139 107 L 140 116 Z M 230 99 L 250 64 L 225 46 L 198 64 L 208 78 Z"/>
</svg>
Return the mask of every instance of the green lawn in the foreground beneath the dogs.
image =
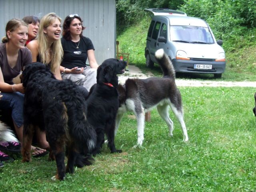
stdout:
<svg viewBox="0 0 256 192">
<path fill-rule="evenodd" d="M 121 154 L 110 154 L 104 145 L 92 166 L 52 181 L 56 163 L 47 157 L 22 163 L 21 158 L 0 170 L 1 191 L 207 191 L 256 190 L 256 117 L 254 88 L 180 87 L 189 141 L 182 142 L 173 113 L 174 136 L 156 110 L 146 122 L 142 148 L 136 120 L 125 114 L 116 136 Z"/>
</svg>

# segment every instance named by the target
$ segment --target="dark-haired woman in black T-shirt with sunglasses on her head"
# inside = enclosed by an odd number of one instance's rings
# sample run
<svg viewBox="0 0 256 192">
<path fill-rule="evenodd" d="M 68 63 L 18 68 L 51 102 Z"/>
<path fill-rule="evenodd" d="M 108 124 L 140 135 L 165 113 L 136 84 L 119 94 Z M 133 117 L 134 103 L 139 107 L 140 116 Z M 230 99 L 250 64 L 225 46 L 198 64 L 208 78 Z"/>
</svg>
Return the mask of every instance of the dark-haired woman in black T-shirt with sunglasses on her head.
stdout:
<svg viewBox="0 0 256 192">
<path fill-rule="evenodd" d="M 96 83 L 98 64 L 92 41 L 82 35 L 84 29 L 78 14 L 71 14 L 65 18 L 61 38 L 64 56 L 60 71 L 62 78 L 70 79 L 90 91 Z M 86 67 L 87 58 L 90 68 Z"/>
</svg>

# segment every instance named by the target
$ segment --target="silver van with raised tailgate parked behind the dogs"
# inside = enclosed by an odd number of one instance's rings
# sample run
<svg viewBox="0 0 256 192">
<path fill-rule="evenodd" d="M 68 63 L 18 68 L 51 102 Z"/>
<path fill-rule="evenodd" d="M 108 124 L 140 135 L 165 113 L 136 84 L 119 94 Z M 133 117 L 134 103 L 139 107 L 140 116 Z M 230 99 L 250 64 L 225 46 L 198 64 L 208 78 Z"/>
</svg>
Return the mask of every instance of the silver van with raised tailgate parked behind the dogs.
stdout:
<svg viewBox="0 0 256 192">
<path fill-rule="evenodd" d="M 154 54 L 163 48 L 176 72 L 208 73 L 220 78 L 226 68 L 222 40 L 216 41 L 202 19 L 169 9 L 146 9 L 154 13 L 148 29 L 146 66 L 156 63 Z"/>
</svg>

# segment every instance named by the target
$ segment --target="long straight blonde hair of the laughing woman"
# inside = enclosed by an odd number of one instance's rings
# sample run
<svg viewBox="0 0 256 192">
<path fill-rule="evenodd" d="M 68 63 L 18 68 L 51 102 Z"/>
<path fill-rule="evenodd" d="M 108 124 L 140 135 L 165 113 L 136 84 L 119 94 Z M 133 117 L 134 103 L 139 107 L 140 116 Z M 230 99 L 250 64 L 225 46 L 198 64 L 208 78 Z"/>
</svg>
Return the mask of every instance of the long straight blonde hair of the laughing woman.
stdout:
<svg viewBox="0 0 256 192">
<path fill-rule="evenodd" d="M 56 15 L 56 13 L 48 13 L 40 21 L 39 30 L 38 30 L 38 53 L 41 58 L 41 62 L 44 64 L 51 63 L 51 70 L 55 72 L 56 68 L 60 66 L 63 49 L 61 45 L 61 40 L 56 40 L 52 43 L 50 47 L 51 53 L 47 52 L 48 48 L 48 39 L 47 34 L 44 33 L 44 29 L 52 24 L 56 19 L 61 23 L 61 18 Z"/>
</svg>

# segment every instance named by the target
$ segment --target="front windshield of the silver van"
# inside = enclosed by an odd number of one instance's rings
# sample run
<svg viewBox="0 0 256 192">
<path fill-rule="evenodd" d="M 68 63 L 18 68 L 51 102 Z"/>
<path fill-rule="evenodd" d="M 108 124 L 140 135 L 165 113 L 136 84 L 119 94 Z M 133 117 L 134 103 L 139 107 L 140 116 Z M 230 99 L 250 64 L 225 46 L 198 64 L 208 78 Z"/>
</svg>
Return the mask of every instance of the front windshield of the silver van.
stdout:
<svg viewBox="0 0 256 192">
<path fill-rule="evenodd" d="M 170 39 L 187 43 L 214 43 L 209 28 L 199 26 L 170 26 Z"/>
</svg>

